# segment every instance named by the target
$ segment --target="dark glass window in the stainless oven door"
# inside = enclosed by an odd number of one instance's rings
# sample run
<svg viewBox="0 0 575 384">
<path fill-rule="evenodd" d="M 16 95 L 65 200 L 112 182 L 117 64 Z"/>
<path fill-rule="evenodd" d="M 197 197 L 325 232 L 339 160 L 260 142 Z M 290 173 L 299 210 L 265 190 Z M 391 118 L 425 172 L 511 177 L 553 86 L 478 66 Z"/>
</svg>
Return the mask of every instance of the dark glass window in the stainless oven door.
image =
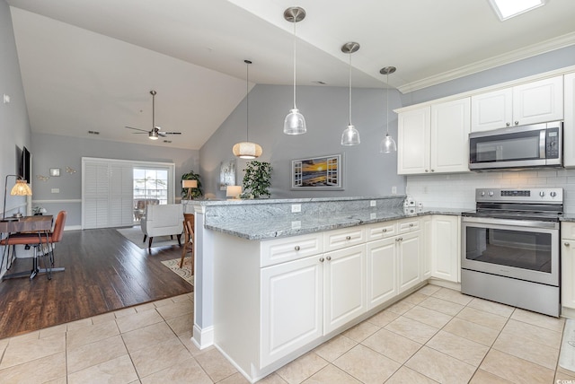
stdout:
<svg viewBox="0 0 575 384">
<path fill-rule="evenodd" d="M 466 228 L 465 258 L 551 273 L 551 233 Z"/>
</svg>

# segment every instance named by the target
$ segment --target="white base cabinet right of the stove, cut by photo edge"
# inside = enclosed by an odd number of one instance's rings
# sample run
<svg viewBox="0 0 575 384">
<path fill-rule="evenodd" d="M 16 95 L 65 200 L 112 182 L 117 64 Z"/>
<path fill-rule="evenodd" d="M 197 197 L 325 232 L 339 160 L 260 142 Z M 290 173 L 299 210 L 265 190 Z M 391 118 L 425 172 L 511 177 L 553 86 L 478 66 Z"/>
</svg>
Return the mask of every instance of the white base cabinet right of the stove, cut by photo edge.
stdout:
<svg viewBox="0 0 575 384">
<path fill-rule="evenodd" d="M 561 304 L 575 310 L 575 223 L 561 224 Z"/>
</svg>

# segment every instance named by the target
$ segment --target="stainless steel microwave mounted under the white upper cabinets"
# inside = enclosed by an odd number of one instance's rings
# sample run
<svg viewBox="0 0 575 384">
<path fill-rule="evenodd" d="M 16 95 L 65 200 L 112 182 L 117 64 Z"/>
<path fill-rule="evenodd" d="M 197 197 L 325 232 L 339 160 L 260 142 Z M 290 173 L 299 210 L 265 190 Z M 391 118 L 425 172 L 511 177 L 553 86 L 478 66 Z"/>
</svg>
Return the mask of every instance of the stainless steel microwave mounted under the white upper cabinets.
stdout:
<svg viewBox="0 0 575 384">
<path fill-rule="evenodd" d="M 469 134 L 469 169 L 562 167 L 563 122 Z"/>
</svg>

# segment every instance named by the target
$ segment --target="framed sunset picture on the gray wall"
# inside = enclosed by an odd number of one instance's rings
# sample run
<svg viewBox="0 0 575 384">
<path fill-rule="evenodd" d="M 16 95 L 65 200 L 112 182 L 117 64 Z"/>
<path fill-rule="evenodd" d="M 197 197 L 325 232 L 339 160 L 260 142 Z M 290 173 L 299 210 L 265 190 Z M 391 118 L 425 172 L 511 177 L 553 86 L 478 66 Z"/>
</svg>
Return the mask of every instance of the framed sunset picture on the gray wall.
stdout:
<svg viewBox="0 0 575 384">
<path fill-rule="evenodd" d="M 292 190 L 343 190 L 343 154 L 291 161 Z"/>
</svg>

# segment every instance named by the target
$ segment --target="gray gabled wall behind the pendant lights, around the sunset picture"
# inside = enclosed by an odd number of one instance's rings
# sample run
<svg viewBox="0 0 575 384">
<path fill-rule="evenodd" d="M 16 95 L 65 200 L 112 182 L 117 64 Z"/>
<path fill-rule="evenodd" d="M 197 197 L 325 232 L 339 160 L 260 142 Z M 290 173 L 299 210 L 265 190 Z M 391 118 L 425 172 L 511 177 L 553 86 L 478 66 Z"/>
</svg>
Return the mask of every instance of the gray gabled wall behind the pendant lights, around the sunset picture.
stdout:
<svg viewBox="0 0 575 384">
<path fill-rule="evenodd" d="M 249 136 L 260 144 L 259 160 L 273 167 L 271 197 L 387 196 L 392 187 L 404 193 L 405 181 L 397 176 L 396 153 L 379 153 L 385 136 L 385 92 L 383 89 L 353 89 L 352 123 L 358 129 L 361 144 L 341 146 L 341 133 L 349 121 L 349 89 L 323 86 L 297 87 L 297 107 L 305 116 L 305 135 L 284 135 L 283 122 L 293 104 L 293 88 L 256 85 L 249 94 Z M 399 92 L 390 90 L 390 135 L 397 138 L 397 115 L 391 109 L 401 106 Z M 225 198 L 218 188 L 221 161 L 234 159 L 232 146 L 246 139 L 246 100 L 200 150 L 201 175 L 208 192 Z M 290 190 L 291 160 L 343 153 L 344 190 Z M 236 161 L 236 184 L 241 185 L 247 161 Z"/>
</svg>

